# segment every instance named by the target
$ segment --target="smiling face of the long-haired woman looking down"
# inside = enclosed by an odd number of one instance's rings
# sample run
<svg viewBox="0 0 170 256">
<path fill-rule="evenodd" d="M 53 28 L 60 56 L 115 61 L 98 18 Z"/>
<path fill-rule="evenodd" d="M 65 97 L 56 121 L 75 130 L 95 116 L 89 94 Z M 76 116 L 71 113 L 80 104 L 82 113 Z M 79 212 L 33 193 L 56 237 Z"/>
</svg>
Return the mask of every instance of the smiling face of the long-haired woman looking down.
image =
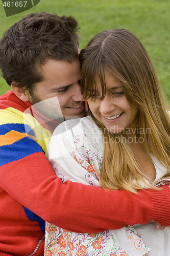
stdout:
<svg viewBox="0 0 170 256">
<path fill-rule="evenodd" d="M 126 131 L 129 134 L 136 133 L 138 123 L 138 111 L 128 102 L 124 95 L 123 88 L 112 74 L 105 70 L 106 95 L 101 100 L 101 83 L 97 83 L 96 99 L 91 97 L 87 100 L 89 109 L 93 116 L 105 125 L 111 133 L 120 133 Z M 94 92 L 95 95 L 95 92 Z M 126 130 L 127 129 L 127 130 Z"/>
</svg>

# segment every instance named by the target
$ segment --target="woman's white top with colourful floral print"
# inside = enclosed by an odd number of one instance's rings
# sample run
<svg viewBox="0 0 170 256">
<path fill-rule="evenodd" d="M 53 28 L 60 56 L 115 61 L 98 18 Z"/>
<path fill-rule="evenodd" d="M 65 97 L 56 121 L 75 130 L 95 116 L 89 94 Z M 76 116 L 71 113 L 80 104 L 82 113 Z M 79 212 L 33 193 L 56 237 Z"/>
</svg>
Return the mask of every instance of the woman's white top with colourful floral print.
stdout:
<svg viewBox="0 0 170 256">
<path fill-rule="evenodd" d="M 100 186 L 99 176 L 103 162 L 103 145 L 102 133 L 90 117 L 68 120 L 60 124 L 55 130 L 48 146 L 47 157 L 62 182 L 71 180 L 86 185 Z M 166 173 L 166 169 L 161 167 L 157 179 Z M 154 251 L 156 251 L 157 244 L 159 244 L 159 236 L 158 239 L 156 236 L 160 232 L 161 237 L 163 237 L 164 231 L 156 230 L 154 223 L 151 225 L 152 227 L 154 225 L 155 230 Z M 137 225 L 137 227 L 142 226 Z M 148 227 L 146 225 L 145 230 L 148 233 L 147 236 L 150 236 L 150 225 Z M 165 228 L 165 230 L 165 235 L 170 242 L 169 229 Z M 169 242 L 167 244 L 170 244 Z M 162 251 L 164 245 L 160 245 Z M 170 251 L 170 245 L 168 245 L 168 249 Z M 46 223 L 44 254 L 46 256 L 170 255 L 170 252 L 161 253 L 156 254 L 154 252 L 152 254 L 152 248 L 145 243 L 134 226 L 100 233 L 75 233 Z"/>
</svg>

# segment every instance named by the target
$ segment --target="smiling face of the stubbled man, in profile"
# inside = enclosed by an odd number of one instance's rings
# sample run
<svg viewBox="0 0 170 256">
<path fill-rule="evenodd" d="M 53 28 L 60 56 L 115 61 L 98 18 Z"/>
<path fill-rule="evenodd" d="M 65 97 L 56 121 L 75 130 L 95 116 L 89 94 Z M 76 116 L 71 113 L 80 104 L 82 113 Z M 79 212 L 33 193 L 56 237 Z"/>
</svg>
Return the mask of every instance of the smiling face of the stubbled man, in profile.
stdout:
<svg viewBox="0 0 170 256">
<path fill-rule="evenodd" d="M 59 111 L 59 105 L 57 103 L 55 105 L 54 102 L 59 102 L 65 119 L 72 116 L 85 116 L 80 90 L 81 71 L 78 59 L 72 63 L 48 59 L 41 66 L 40 72 L 44 79 L 36 83 L 33 91 L 30 92 L 29 101 L 32 104 L 43 101 L 42 106 L 45 112 L 55 113 Z M 58 100 L 56 100 L 56 96 Z"/>
</svg>

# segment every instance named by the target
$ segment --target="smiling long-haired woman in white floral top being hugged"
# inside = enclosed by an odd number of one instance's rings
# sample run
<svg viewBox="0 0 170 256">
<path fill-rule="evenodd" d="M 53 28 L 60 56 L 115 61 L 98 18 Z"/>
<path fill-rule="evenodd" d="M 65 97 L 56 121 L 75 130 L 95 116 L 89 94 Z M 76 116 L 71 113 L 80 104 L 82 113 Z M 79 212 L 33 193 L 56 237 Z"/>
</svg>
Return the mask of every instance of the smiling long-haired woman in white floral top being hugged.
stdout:
<svg viewBox="0 0 170 256">
<path fill-rule="evenodd" d="M 92 118 L 58 126 L 48 151 L 56 174 L 63 181 L 132 193 L 159 189 L 155 185 L 168 182 L 170 175 L 170 121 L 141 42 L 124 29 L 103 31 L 81 51 L 80 62 L 82 94 Z M 56 234 L 55 249 L 63 255 L 170 255 L 169 229 L 156 230 L 154 223 L 98 234 L 55 228 L 46 225 L 46 245 Z"/>
</svg>

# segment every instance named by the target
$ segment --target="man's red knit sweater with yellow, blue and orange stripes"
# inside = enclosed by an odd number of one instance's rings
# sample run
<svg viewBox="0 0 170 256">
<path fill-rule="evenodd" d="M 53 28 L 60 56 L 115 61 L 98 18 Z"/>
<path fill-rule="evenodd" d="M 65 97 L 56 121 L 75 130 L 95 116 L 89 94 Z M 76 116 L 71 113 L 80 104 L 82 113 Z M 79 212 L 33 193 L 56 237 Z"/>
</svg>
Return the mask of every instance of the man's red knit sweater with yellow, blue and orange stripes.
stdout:
<svg viewBox="0 0 170 256">
<path fill-rule="evenodd" d="M 168 186 L 134 195 L 62 184 L 45 156 L 51 126 L 57 124 L 47 125 L 32 108 L 12 91 L 0 97 L 1 256 L 42 256 L 45 221 L 74 232 L 101 232 L 153 219 L 170 224 Z"/>
</svg>

